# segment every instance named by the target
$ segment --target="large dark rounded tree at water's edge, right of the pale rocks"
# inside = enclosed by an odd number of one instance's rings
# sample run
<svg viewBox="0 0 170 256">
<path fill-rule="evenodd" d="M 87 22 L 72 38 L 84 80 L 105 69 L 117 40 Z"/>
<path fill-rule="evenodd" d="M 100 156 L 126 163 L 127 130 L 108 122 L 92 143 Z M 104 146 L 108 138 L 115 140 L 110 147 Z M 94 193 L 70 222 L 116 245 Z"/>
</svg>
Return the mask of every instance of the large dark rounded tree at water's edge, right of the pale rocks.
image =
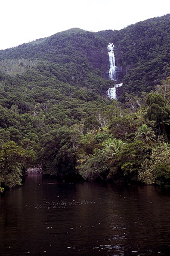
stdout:
<svg viewBox="0 0 170 256">
<path fill-rule="evenodd" d="M 66 177 L 73 174 L 79 132 L 67 127 L 52 129 L 42 136 L 39 161 L 48 173 Z"/>
</svg>

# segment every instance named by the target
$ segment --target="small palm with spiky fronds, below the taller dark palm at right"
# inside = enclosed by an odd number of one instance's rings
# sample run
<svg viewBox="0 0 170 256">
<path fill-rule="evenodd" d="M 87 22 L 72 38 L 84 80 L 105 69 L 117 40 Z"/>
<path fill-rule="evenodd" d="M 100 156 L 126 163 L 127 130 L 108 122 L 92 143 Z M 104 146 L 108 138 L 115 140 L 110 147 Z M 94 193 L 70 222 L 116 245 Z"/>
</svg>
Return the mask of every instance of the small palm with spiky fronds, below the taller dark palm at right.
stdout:
<svg viewBox="0 0 170 256">
<path fill-rule="evenodd" d="M 146 144 L 152 144 L 153 141 L 155 141 L 154 138 L 156 137 L 153 129 L 145 124 L 138 128 L 138 131 L 135 133 L 135 135 L 135 138 L 143 140 Z"/>
</svg>

